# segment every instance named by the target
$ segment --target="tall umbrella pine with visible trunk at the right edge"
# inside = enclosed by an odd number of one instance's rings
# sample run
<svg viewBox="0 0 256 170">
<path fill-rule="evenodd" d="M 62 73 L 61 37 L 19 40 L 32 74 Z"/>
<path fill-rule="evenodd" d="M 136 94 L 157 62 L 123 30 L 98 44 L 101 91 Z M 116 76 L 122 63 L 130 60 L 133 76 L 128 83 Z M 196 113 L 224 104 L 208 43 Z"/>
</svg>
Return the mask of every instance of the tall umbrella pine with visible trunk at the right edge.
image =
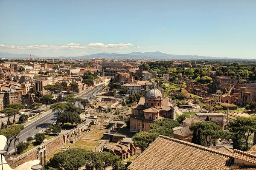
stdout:
<svg viewBox="0 0 256 170">
<path fill-rule="evenodd" d="M 252 133 L 256 132 L 256 118 L 241 116 L 235 119 L 233 122 L 230 122 L 229 127 L 231 133 L 241 133 L 245 140 L 246 150 L 248 150 L 249 136 L 251 136 Z"/>
</svg>

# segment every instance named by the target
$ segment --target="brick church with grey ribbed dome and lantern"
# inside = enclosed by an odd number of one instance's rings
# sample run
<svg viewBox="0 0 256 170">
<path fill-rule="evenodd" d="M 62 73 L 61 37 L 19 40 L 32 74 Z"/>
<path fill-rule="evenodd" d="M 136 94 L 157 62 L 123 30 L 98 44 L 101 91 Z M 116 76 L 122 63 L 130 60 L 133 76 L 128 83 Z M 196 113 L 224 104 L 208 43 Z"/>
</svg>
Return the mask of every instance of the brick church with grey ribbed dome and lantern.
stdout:
<svg viewBox="0 0 256 170">
<path fill-rule="evenodd" d="M 148 132 L 149 125 L 161 118 L 175 119 L 175 106 L 171 99 L 163 98 L 164 91 L 152 85 L 145 97 L 141 97 L 136 106 L 131 107 L 131 132 Z"/>
</svg>

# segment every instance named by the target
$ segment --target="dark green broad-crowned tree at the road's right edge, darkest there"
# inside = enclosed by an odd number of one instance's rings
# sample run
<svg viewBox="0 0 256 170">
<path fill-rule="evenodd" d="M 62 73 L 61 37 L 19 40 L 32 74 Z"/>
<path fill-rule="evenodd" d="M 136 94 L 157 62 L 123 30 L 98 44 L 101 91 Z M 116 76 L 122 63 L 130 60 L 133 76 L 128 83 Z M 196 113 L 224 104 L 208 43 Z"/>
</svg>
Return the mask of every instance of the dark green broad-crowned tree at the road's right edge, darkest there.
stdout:
<svg viewBox="0 0 256 170">
<path fill-rule="evenodd" d="M 81 118 L 76 112 L 65 111 L 60 116 L 58 116 L 58 122 L 61 122 L 61 125 L 64 123 L 71 123 L 73 126 L 74 123 L 80 123 Z"/>
</svg>

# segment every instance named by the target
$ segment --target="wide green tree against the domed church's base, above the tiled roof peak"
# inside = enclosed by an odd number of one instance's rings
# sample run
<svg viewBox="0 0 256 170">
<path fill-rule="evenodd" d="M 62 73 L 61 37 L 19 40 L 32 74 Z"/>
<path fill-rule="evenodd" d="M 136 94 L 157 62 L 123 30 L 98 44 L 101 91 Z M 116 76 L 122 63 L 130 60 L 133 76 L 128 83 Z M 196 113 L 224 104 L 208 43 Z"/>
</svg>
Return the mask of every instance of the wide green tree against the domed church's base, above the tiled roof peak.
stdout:
<svg viewBox="0 0 256 170">
<path fill-rule="evenodd" d="M 179 122 L 164 118 L 159 119 L 156 122 L 149 125 L 151 130 L 150 133 L 158 133 L 159 135 L 173 137 L 173 128 L 180 126 Z"/>
</svg>

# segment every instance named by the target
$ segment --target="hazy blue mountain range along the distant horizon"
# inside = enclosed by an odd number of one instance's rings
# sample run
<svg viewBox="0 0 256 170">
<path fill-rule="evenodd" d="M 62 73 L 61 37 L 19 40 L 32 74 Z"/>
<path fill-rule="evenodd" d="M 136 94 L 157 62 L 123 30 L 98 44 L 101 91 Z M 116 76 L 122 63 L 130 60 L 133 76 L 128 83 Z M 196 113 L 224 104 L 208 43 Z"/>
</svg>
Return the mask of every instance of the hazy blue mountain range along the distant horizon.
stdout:
<svg viewBox="0 0 256 170">
<path fill-rule="evenodd" d="M 6 59 L 26 59 L 29 58 L 27 54 L 10 54 L 10 53 L 2 53 L 0 52 L 0 58 Z M 54 59 L 91 59 L 91 58 L 105 58 L 105 59 L 177 59 L 177 60 L 239 60 L 236 58 L 228 58 L 228 57 L 206 57 L 206 56 L 193 56 L 193 55 L 174 55 L 174 54 L 166 54 L 160 51 L 156 52 L 132 52 L 129 54 L 116 54 L 116 53 L 98 53 L 91 54 L 86 56 L 78 56 L 78 57 L 41 57 L 40 58 L 54 58 Z"/>
</svg>

